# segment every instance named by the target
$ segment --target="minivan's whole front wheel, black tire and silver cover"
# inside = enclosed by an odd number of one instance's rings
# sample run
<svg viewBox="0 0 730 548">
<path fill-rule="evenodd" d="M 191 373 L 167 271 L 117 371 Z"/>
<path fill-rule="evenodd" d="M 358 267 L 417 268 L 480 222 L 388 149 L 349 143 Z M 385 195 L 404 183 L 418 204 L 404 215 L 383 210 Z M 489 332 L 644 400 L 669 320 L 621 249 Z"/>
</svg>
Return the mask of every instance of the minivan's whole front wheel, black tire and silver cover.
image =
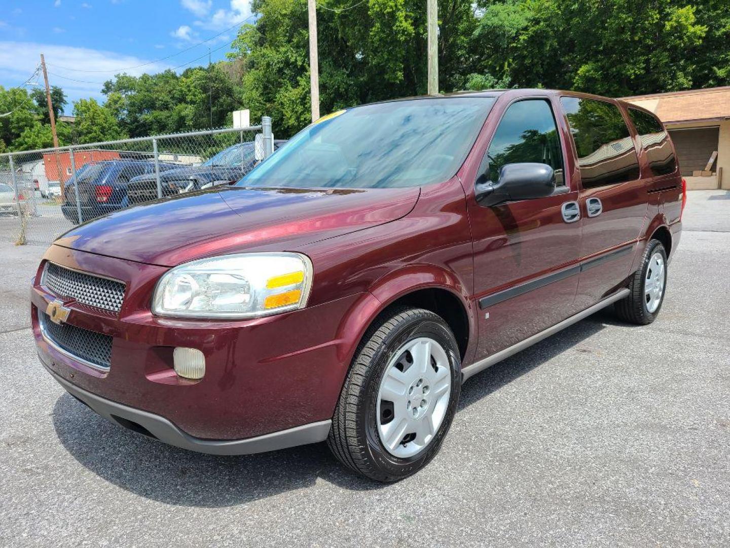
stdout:
<svg viewBox="0 0 730 548">
<path fill-rule="evenodd" d="M 393 311 L 358 347 L 327 444 L 364 476 L 404 479 L 439 451 L 460 392 L 458 346 L 445 321 L 420 308 Z"/>
</svg>

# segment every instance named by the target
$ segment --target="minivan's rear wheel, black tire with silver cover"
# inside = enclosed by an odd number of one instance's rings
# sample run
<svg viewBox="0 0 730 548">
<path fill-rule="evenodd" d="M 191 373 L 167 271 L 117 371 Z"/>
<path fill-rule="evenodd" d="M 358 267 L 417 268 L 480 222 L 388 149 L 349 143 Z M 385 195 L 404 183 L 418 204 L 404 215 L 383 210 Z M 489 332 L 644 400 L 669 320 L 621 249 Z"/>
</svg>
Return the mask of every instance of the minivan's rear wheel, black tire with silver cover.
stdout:
<svg viewBox="0 0 730 548">
<path fill-rule="evenodd" d="M 616 303 L 616 313 L 632 324 L 650 324 L 661 310 L 666 291 L 666 251 L 659 240 L 649 240 L 629 290 L 629 297 Z"/>
</svg>

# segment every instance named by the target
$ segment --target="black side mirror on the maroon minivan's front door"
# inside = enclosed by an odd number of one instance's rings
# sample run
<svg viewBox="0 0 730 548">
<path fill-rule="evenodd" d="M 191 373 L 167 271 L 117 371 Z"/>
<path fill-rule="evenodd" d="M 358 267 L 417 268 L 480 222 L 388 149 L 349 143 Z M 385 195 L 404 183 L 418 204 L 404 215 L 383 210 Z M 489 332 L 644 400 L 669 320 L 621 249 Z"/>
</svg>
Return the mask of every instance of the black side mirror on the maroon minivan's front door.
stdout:
<svg viewBox="0 0 730 548">
<path fill-rule="evenodd" d="M 505 164 L 496 183 L 477 183 L 477 202 L 484 206 L 519 199 L 550 196 L 555 191 L 555 173 L 548 164 Z"/>
</svg>

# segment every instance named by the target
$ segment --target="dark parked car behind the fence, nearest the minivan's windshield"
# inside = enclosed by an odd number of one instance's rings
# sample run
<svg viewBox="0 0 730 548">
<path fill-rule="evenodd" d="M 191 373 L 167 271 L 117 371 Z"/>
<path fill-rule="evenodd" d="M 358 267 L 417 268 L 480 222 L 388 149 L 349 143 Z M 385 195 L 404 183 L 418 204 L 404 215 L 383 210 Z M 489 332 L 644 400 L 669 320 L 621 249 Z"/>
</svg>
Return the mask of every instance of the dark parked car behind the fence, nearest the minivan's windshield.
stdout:
<svg viewBox="0 0 730 548">
<path fill-rule="evenodd" d="M 274 140 L 276 151 L 285 140 Z M 226 148 L 199 166 L 177 167 L 160 176 L 162 196 L 173 196 L 211 186 L 235 183 L 255 165 L 253 142 Z M 139 204 L 158 198 L 155 173 L 140 175 L 129 181 L 129 202 Z"/>
</svg>

